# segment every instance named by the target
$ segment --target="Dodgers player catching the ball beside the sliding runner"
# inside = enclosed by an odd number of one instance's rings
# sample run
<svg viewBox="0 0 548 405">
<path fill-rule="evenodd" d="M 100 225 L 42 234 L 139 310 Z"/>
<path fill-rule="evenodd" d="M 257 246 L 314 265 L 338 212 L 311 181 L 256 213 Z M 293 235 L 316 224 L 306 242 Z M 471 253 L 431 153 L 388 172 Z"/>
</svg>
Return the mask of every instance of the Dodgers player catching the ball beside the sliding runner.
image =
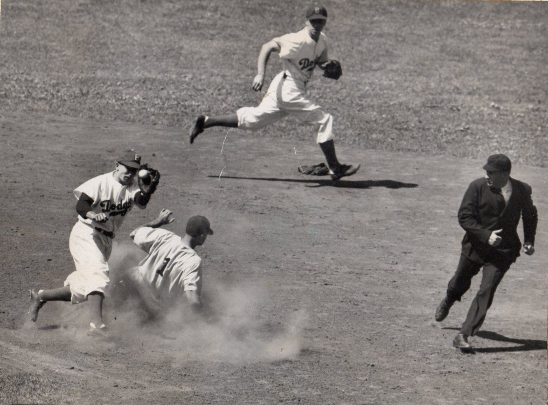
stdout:
<svg viewBox="0 0 548 405">
<path fill-rule="evenodd" d="M 148 181 L 135 174 L 146 168 Z M 112 239 L 125 216 L 134 205 L 143 209 L 156 191 L 160 179 L 157 170 L 141 165 L 141 156 L 134 150 L 124 151 L 117 159 L 115 170 L 90 179 L 74 190 L 78 199 L 78 221 L 68 239 L 68 247 L 76 271 L 68 275 L 64 287 L 30 290 L 30 318 L 36 322 L 38 311 L 47 301 L 89 301 L 88 334 L 109 338 L 102 318 L 102 301 L 109 287 L 109 259 Z M 145 184 L 147 183 L 147 184 Z"/>
</svg>

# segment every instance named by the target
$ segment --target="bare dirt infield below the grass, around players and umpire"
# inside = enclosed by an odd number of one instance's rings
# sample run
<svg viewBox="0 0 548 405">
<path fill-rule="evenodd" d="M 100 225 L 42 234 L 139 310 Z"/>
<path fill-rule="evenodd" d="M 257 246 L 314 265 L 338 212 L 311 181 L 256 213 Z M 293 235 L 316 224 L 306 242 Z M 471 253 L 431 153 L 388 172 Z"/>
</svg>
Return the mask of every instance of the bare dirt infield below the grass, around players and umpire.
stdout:
<svg viewBox="0 0 548 405">
<path fill-rule="evenodd" d="M 230 130 L 190 147 L 173 128 L 12 113 L 2 132 L 0 381 L 8 385 L 0 402 L 546 399 L 546 215 L 537 253 L 520 258 L 499 287 L 473 339 L 475 355 L 450 347 L 473 291 L 446 321 L 433 321 L 458 260 L 456 210 L 482 161 L 340 147 L 341 157 L 363 167 L 333 185 L 297 173 L 297 158 L 321 158 L 310 141 L 269 143 Z M 83 148 L 84 136 L 95 142 Z M 113 307 L 112 299 L 107 321 L 121 338 L 116 344 L 84 336 L 85 304 L 48 303 L 36 324 L 26 321 L 27 289 L 59 286 L 72 271 L 71 190 L 112 167 L 112 139 L 139 145 L 163 173 L 149 208 L 134 210 L 116 236 L 113 271 L 135 263 L 128 234 L 159 209 L 173 210 L 175 232 L 204 214 L 215 235 L 198 252 L 218 323 L 143 326 L 130 304 Z M 536 206 L 547 212 L 545 170 L 516 166 L 513 174 L 533 186 Z M 31 378 L 42 391 L 13 391 L 19 380 L 32 386 Z"/>
</svg>

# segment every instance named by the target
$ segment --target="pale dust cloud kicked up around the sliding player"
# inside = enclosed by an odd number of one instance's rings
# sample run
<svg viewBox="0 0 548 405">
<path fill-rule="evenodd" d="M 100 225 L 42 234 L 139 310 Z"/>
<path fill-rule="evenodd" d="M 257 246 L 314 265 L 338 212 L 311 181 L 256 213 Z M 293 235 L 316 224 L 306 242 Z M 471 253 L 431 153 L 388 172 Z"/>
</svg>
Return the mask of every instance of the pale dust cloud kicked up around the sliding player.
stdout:
<svg viewBox="0 0 548 405">
<path fill-rule="evenodd" d="M 192 313 L 184 295 L 150 317 L 128 279 L 144 254 L 130 243 L 112 251 L 110 299 L 105 322 L 122 341 L 169 352 L 174 366 L 185 361 L 213 359 L 230 362 L 279 361 L 295 358 L 302 347 L 306 314 L 272 313 L 265 285 L 204 274 L 204 314 Z M 210 265 L 208 265 L 210 267 Z"/>
</svg>

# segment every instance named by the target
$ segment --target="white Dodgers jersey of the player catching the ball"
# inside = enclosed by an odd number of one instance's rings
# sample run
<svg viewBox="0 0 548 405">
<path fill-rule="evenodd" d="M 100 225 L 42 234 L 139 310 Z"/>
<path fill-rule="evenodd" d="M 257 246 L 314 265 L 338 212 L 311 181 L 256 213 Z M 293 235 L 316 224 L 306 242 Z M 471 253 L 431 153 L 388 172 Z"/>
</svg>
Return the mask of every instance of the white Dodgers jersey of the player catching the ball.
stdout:
<svg viewBox="0 0 548 405">
<path fill-rule="evenodd" d="M 78 220 L 106 231 L 116 232 L 122 225 L 125 215 L 133 208 L 135 194 L 139 190 L 135 179 L 131 184 L 123 185 L 114 178 L 113 172 L 89 179 L 74 190 L 74 195 L 79 199 L 82 193 L 85 193 L 93 198 L 92 211 L 105 213 L 109 219 L 104 223 L 98 223 L 78 215 Z"/>
</svg>

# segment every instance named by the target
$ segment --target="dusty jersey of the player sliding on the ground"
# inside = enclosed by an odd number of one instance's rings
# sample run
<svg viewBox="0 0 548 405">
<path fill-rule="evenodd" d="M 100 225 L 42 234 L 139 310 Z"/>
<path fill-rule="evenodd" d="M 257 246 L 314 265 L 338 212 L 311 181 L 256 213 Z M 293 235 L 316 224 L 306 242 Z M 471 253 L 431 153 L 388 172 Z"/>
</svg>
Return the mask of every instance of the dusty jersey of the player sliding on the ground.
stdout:
<svg viewBox="0 0 548 405">
<path fill-rule="evenodd" d="M 177 294 L 202 289 L 202 259 L 180 236 L 165 229 L 144 226 L 133 242 L 147 255 L 139 263 L 139 273 L 150 286 Z"/>
</svg>

